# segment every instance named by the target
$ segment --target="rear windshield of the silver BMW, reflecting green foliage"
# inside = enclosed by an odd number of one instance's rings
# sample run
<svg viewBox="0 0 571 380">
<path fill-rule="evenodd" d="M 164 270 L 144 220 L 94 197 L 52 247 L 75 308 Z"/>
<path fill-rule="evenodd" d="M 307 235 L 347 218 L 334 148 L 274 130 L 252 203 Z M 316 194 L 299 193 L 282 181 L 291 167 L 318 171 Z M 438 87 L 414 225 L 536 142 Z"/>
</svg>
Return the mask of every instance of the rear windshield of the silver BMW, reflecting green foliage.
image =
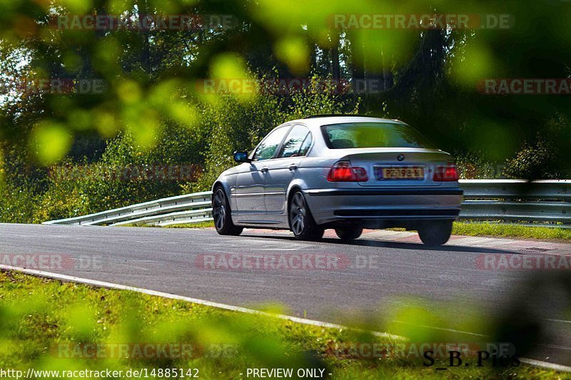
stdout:
<svg viewBox="0 0 571 380">
<path fill-rule="evenodd" d="M 417 130 L 395 123 L 340 123 L 323 125 L 323 138 L 330 149 L 433 148 Z"/>
</svg>

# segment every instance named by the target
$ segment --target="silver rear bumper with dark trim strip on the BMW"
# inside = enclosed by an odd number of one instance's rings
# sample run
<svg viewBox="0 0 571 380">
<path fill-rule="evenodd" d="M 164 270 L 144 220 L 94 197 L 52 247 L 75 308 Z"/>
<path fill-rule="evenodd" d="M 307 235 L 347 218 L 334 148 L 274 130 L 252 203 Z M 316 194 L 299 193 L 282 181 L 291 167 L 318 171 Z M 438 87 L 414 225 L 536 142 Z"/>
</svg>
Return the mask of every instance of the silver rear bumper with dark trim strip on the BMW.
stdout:
<svg viewBox="0 0 571 380">
<path fill-rule="evenodd" d="M 460 188 L 384 188 L 305 190 L 305 199 L 320 225 L 343 220 L 455 220 L 460 213 Z"/>
</svg>

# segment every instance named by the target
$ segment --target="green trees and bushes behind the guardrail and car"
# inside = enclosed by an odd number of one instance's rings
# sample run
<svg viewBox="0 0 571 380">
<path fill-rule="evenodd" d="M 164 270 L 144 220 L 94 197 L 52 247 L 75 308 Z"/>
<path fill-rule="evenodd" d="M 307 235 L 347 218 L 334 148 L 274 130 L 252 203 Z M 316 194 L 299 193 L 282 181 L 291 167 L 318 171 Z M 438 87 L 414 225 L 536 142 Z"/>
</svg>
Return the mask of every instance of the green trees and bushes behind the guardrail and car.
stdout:
<svg viewBox="0 0 571 380">
<path fill-rule="evenodd" d="M 347 21 L 363 14 L 434 17 L 408 28 Z M 446 14 L 477 22 L 438 24 Z M 86 16 L 93 15 L 123 26 L 89 27 Z M 176 15 L 194 22 L 189 28 L 159 22 Z M 502 15 L 510 23 L 493 25 Z M 566 176 L 568 97 L 481 90 L 488 78 L 569 78 L 570 16 L 570 3 L 555 0 L 2 1 L 2 202 L 50 193 L 39 204 L 59 211 L 40 220 L 181 191 L 178 183 L 86 185 L 92 190 L 54 184 L 46 168 L 62 163 L 106 168 L 189 160 L 205 172 L 183 190 L 204 189 L 231 165 L 233 150 L 252 148 L 288 118 L 355 112 L 356 105 L 359 113 L 400 118 L 462 157 L 477 152 L 492 165 L 507 162 L 507 175 Z M 147 17 L 150 28 L 136 27 Z M 294 93 L 203 87 L 263 78 L 331 80 L 353 91 L 313 84 Z M 64 91 L 52 81 L 64 83 Z M 362 91 L 363 83 L 375 88 Z M 550 126 L 554 115 L 557 128 Z M 4 220 L 30 217 L 29 210 L 6 213 L 6 207 L 3 215 L 14 218 Z"/>
</svg>

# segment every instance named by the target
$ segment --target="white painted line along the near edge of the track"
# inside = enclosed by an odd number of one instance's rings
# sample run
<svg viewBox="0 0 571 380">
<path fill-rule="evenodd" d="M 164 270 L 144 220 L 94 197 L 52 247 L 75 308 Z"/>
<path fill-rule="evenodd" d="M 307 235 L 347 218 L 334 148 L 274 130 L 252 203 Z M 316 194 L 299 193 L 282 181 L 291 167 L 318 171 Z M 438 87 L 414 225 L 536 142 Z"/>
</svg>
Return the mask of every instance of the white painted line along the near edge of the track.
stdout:
<svg viewBox="0 0 571 380">
<path fill-rule="evenodd" d="M 258 314 L 258 315 L 262 315 L 264 317 L 275 317 L 275 318 L 285 319 L 285 320 L 300 323 L 300 324 L 308 324 L 310 326 L 327 327 L 330 329 L 351 329 L 350 327 L 346 327 L 346 326 L 343 326 L 341 324 L 315 321 L 313 319 L 293 317 L 293 316 L 285 315 L 285 314 L 271 314 L 268 312 L 261 312 L 260 310 L 248 309 L 246 307 L 239 307 L 239 306 L 233 306 L 233 305 L 229 305 L 229 304 L 221 304 L 219 302 L 207 301 L 206 299 L 198 299 L 198 298 L 192 298 L 192 297 L 186 297 L 186 296 L 179 296 L 177 294 L 158 292 L 157 290 L 144 289 L 141 287 L 130 287 L 128 285 L 113 284 L 112 282 L 98 281 L 96 279 L 86 279 L 86 278 L 82 278 L 82 277 L 68 276 L 67 274 L 44 272 L 43 270 L 12 267 L 11 265 L 3 265 L 3 264 L 0 264 L 0 269 L 14 270 L 16 272 L 22 272 L 25 274 L 33 274 L 33 275 L 39 276 L 39 277 L 60 279 L 62 281 L 77 282 L 79 284 L 87 284 L 87 285 L 91 285 L 94 287 L 104 287 L 104 288 L 108 288 L 108 289 L 117 289 L 117 290 L 129 290 L 131 292 L 143 293 L 143 294 L 147 294 L 150 296 L 163 297 L 163 298 L 168 298 L 168 299 L 178 299 L 180 301 L 191 302 L 193 304 L 201 304 L 201 305 L 209 306 L 209 307 L 216 307 L 218 309 L 229 310 L 232 312 L 243 312 L 243 313 L 248 313 L 248 314 Z M 400 337 L 400 335 L 389 334 L 387 332 L 373 332 L 373 334 L 375 334 L 378 337 L 385 337 L 385 338 L 394 339 L 397 341 L 400 341 L 400 340 L 407 341 L 408 340 L 405 337 Z M 549 363 L 547 361 L 540 361 L 540 360 L 527 359 L 527 358 L 520 358 L 520 361 L 522 363 L 530 364 L 532 366 L 538 366 L 538 367 L 542 367 L 542 368 L 546 368 L 546 369 L 552 369 L 554 371 L 571 372 L 571 366 L 563 366 L 561 364 L 553 364 L 553 363 Z"/>
</svg>

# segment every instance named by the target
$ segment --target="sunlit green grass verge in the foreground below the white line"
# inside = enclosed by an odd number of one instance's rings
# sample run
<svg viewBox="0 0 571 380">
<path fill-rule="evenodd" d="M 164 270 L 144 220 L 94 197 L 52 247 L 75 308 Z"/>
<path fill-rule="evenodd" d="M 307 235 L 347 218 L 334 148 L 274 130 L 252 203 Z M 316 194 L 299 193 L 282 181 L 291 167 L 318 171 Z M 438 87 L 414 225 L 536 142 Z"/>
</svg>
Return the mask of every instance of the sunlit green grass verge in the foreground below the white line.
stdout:
<svg viewBox="0 0 571 380">
<path fill-rule="evenodd" d="M 353 342 L 363 346 L 363 342 L 378 341 L 363 332 L 296 324 L 18 272 L 0 272 L 0 323 L 0 368 L 24 374 L 29 368 L 110 369 L 123 371 L 119 377 L 126 378 L 129 369 L 146 369 L 149 375 L 155 374 L 149 377 L 197 374 L 202 379 L 241 379 L 248 377 L 248 368 L 285 368 L 293 369 L 294 374 L 298 369 L 317 369 L 318 373 L 323 369 L 334 379 L 567 376 L 525 364 L 511 368 L 458 366 L 438 371 L 435 368 L 447 366 L 447 361 L 438 359 L 433 366 L 423 366 L 421 356 L 348 351 Z M 171 369 L 170 375 L 166 369 Z M 173 369 L 182 372 L 174 376 Z M 66 376 L 74 377 L 81 374 Z"/>
</svg>

